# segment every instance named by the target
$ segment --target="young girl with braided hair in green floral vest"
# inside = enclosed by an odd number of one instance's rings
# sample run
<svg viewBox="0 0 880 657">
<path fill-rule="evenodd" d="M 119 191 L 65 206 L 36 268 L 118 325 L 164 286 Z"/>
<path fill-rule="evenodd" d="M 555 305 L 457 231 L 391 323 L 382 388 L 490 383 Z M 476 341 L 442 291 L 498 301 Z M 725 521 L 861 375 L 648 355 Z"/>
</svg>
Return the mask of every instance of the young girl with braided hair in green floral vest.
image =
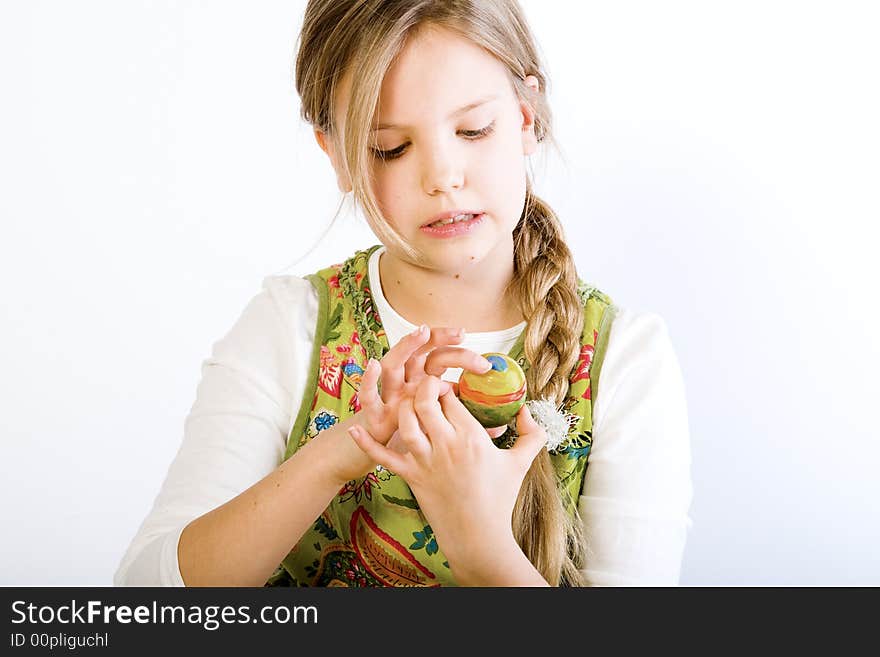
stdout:
<svg viewBox="0 0 880 657">
<path fill-rule="evenodd" d="M 551 115 L 517 3 L 311 0 L 296 85 L 381 244 L 264 280 L 114 582 L 677 583 L 677 360 L 659 316 L 578 278 L 532 191 Z M 549 417 L 530 401 L 486 429 L 465 410 L 458 376 L 487 352 Z"/>
</svg>

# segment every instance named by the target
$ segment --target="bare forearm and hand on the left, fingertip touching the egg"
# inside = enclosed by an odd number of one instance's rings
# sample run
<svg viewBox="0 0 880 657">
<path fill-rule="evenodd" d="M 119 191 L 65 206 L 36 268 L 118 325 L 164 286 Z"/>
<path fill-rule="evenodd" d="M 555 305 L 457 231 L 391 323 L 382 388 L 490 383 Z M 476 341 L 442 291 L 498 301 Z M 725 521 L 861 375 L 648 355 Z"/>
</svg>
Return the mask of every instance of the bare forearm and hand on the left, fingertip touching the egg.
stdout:
<svg viewBox="0 0 880 657">
<path fill-rule="evenodd" d="M 427 378 L 426 364 L 432 371 L 446 366 L 491 367 L 478 354 L 446 346 L 459 339 L 446 329 L 432 333 L 427 328 L 404 337 L 381 363 L 373 361 L 367 367 L 360 387 L 361 412 L 320 432 L 269 475 L 187 525 L 178 544 L 184 583 L 264 584 L 339 489 L 376 466 L 352 441 L 349 428 L 363 427 L 386 444 L 397 429 L 397 403 Z M 377 388 L 380 375 L 382 397 Z M 431 378 L 450 390 L 448 383 Z"/>
</svg>

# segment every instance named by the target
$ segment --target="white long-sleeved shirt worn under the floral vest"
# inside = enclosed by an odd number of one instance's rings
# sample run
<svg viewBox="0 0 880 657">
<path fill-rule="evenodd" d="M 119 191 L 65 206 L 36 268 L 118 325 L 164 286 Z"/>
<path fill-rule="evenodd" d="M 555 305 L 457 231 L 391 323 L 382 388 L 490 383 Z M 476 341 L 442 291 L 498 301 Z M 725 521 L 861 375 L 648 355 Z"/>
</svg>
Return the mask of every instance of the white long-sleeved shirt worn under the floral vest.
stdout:
<svg viewBox="0 0 880 657">
<path fill-rule="evenodd" d="M 371 292 L 390 345 L 416 326 L 387 302 L 377 249 Z M 598 393 L 579 511 L 594 586 L 678 583 L 693 487 L 684 382 L 666 323 L 618 305 Z M 183 586 L 180 534 L 281 463 L 306 388 L 318 298 L 298 276 L 268 276 L 202 363 L 196 400 L 165 481 L 113 577 L 116 586 Z M 508 352 L 525 323 L 466 333 L 461 346 Z M 460 369 L 443 376 L 457 381 Z"/>
</svg>

